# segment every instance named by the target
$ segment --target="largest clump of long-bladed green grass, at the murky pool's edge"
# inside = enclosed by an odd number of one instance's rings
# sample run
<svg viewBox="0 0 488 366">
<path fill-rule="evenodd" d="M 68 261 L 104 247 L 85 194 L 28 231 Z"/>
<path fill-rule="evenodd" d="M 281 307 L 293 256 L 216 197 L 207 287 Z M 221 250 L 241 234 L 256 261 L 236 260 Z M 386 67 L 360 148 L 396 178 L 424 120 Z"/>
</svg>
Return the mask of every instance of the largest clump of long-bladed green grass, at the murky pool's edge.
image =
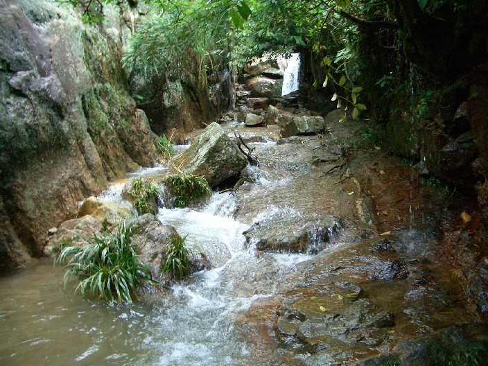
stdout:
<svg viewBox="0 0 488 366">
<path fill-rule="evenodd" d="M 64 247 L 55 259 L 58 264 L 67 261 L 64 286 L 71 277 L 78 277 L 75 292 L 80 290 L 83 297 L 128 303 L 137 297 L 137 290 L 158 287 L 148 266 L 139 261 L 131 236 L 123 223 L 116 234 L 94 236 L 84 247 Z"/>
</svg>

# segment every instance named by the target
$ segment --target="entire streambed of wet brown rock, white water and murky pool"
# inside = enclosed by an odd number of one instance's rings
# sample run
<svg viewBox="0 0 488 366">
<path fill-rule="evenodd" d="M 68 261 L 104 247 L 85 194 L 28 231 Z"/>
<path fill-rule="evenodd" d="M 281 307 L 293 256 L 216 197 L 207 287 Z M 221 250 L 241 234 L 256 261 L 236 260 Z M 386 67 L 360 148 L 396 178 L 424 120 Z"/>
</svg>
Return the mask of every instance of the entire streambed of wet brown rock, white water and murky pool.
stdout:
<svg viewBox="0 0 488 366">
<path fill-rule="evenodd" d="M 209 261 L 168 292 L 132 308 L 89 304 L 67 297 L 62 273 L 44 262 L 0 279 L 2 363 L 24 365 L 36 352 L 59 365 L 457 365 L 486 356 L 488 263 L 474 202 L 421 184 L 381 148 L 354 148 L 363 123 L 326 120 L 328 132 L 287 138 L 274 125 L 224 126 L 259 159 L 243 185 L 135 219 L 162 241 L 162 228 L 189 234 Z M 166 171 L 141 174 L 157 181 Z M 123 184 L 102 198 L 120 203 Z M 36 271 L 44 275 L 33 279 Z"/>
</svg>

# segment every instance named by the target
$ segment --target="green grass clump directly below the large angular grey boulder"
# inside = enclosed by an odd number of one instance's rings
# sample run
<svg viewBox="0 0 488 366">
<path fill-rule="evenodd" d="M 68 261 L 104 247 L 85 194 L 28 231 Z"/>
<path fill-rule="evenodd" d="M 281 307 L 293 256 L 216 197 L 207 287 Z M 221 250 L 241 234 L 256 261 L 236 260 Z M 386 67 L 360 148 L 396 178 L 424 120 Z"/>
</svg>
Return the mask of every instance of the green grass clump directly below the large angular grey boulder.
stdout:
<svg viewBox="0 0 488 366">
<path fill-rule="evenodd" d="M 166 175 L 164 184 L 176 195 L 176 207 L 186 207 L 190 200 L 211 195 L 209 183 L 200 175 Z"/>
</svg>

